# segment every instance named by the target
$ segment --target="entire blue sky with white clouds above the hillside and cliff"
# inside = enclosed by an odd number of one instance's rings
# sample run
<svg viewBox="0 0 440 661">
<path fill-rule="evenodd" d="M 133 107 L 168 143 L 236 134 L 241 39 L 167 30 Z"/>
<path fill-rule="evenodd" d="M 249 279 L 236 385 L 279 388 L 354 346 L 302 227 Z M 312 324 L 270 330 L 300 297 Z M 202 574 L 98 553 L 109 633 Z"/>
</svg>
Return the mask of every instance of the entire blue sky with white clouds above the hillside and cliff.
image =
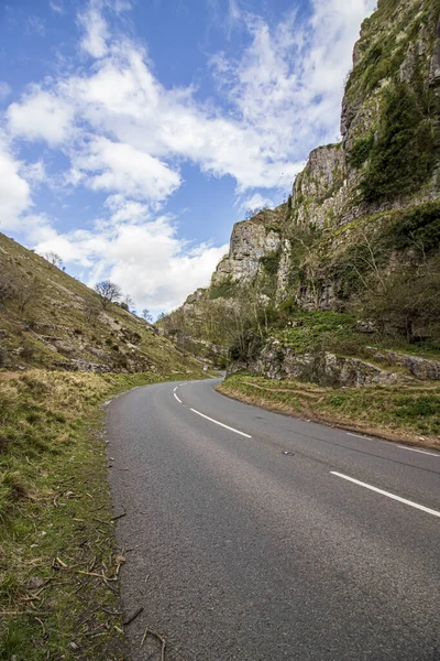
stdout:
<svg viewBox="0 0 440 661">
<path fill-rule="evenodd" d="M 375 0 L 0 0 L 0 231 L 154 315 L 340 139 Z"/>
</svg>

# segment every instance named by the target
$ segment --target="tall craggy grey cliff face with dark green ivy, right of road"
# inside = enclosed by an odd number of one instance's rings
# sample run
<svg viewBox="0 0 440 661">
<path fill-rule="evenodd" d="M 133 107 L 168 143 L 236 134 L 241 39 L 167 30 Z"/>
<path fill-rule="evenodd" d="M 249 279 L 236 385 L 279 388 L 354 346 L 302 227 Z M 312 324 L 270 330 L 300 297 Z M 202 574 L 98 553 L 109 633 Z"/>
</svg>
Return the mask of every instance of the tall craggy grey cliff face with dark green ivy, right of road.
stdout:
<svg viewBox="0 0 440 661">
<path fill-rule="evenodd" d="M 234 226 L 211 286 L 257 283 L 268 258 L 276 302 L 294 295 L 306 310 L 344 308 L 341 262 L 353 246 L 396 214 L 438 203 L 438 14 L 435 0 L 380 0 L 354 47 L 342 142 L 311 152 L 287 204 Z M 396 260 L 392 247 L 387 259 Z"/>
</svg>

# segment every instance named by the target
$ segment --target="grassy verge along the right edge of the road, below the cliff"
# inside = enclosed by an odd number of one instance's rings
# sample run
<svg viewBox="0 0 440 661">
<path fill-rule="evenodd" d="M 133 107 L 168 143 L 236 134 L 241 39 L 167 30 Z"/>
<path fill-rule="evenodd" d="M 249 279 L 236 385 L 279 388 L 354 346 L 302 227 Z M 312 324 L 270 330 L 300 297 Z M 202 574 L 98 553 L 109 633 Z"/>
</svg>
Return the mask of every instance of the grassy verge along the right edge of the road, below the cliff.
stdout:
<svg viewBox="0 0 440 661">
<path fill-rule="evenodd" d="M 219 392 L 298 418 L 440 449 L 440 384 L 323 388 L 233 375 Z"/>
</svg>

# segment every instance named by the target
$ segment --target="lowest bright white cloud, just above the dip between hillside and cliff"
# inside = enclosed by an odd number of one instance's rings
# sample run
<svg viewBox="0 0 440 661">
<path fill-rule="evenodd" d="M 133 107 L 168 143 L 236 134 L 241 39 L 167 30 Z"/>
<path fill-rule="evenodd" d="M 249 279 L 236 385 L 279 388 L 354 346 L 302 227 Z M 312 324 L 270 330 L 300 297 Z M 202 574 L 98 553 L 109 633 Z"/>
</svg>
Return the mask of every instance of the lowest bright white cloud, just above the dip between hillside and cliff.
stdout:
<svg viewBox="0 0 440 661">
<path fill-rule="evenodd" d="M 109 278 L 134 299 L 139 310 L 156 312 L 176 307 L 188 292 L 209 284 L 228 250 L 228 246 L 190 246 L 178 239 L 177 228 L 167 216 L 142 224 L 113 223 L 99 234 L 77 230 L 58 235 L 52 230 L 43 236 L 44 231 L 37 252 L 54 250 L 65 262 L 92 267 L 89 285 Z"/>
</svg>

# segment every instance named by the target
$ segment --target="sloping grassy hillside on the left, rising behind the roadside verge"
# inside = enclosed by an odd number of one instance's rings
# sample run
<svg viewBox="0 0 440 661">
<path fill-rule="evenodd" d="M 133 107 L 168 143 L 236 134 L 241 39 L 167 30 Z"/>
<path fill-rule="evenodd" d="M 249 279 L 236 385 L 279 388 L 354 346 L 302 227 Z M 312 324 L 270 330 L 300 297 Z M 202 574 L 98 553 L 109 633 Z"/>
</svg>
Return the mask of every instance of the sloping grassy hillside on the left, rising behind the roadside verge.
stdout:
<svg viewBox="0 0 440 661">
<path fill-rule="evenodd" d="M 153 371 L 198 366 L 146 322 L 0 234 L 0 368 Z"/>
</svg>

